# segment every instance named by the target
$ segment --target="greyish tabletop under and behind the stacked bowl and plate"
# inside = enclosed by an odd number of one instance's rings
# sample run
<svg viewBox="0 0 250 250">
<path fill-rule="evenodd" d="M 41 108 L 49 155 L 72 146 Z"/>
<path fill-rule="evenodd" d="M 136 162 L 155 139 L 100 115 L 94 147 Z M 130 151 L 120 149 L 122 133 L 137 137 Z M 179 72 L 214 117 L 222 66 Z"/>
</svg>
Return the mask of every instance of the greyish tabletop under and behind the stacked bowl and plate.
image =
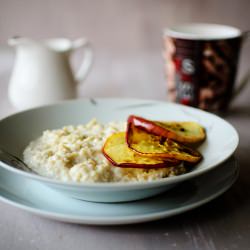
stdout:
<svg viewBox="0 0 250 250">
<path fill-rule="evenodd" d="M 7 98 L 13 52 L 0 50 L 0 118 L 16 110 Z M 160 53 L 99 55 L 79 97 L 121 96 L 166 99 Z M 152 223 L 85 226 L 40 218 L 0 202 L 0 249 L 249 249 L 250 88 L 225 117 L 239 131 L 241 172 L 224 195 L 198 209 Z"/>
</svg>

